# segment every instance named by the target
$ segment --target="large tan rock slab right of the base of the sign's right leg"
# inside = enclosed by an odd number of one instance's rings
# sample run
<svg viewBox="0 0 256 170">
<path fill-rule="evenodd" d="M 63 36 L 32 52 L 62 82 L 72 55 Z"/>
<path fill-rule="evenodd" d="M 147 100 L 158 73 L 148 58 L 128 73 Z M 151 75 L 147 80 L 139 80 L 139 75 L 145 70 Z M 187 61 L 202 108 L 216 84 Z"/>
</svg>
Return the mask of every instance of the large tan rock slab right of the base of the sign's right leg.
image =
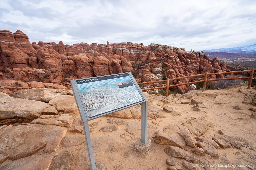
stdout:
<svg viewBox="0 0 256 170">
<path fill-rule="evenodd" d="M 163 130 L 156 131 L 152 138 L 161 145 L 185 148 L 186 145 L 195 147 L 193 135 L 186 126 L 165 126 Z"/>
</svg>

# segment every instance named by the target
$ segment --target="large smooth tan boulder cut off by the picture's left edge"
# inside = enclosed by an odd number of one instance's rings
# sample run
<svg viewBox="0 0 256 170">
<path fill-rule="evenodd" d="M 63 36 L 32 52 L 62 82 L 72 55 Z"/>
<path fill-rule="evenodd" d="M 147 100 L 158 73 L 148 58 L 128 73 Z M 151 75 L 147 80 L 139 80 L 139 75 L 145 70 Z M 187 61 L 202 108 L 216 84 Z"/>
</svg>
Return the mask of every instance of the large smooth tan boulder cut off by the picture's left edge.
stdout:
<svg viewBox="0 0 256 170">
<path fill-rule="evenodd" d="M 50 106 L 41 101 L 13 98 L 2 92 L 0 92 L 0 98 L 0 120 L 14 117 L 33 120 Z"/>
</svg>

